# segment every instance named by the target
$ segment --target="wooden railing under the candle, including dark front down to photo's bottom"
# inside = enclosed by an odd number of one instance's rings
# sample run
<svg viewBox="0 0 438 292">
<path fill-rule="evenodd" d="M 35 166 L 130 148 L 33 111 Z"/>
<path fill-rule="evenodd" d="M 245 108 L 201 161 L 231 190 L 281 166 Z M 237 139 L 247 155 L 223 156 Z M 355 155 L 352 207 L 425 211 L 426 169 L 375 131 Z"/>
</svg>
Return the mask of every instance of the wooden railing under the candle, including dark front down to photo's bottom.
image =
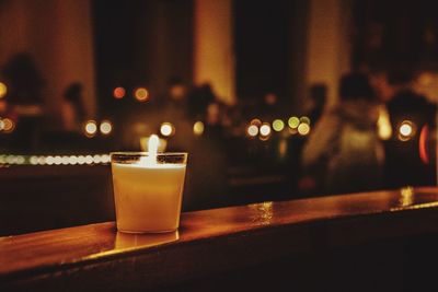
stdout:
<svg viewBox="0 0 438 292">
<path fill-rule="evenodd" d="M 436 234 L 436 188 L 187 212 L 157 235 L 90 224 L 0 237 L 0 291 L 420 290 Z"/>
</svg>

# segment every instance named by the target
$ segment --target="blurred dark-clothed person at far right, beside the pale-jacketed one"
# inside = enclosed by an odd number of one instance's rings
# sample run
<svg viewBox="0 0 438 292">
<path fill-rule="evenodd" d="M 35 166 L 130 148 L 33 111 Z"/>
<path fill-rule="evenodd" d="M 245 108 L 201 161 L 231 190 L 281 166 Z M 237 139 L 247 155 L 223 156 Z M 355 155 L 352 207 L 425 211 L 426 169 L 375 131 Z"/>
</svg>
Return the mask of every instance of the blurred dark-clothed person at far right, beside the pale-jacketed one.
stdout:
<svg viewBox="0 0 438 292">
<path fill-rule="evenodd" d="M 434 184 L 434 171 L 419 157 L 419 135 L 425 126 L 434 126 L 436 105 L 412 90 L 414 74 L 407 70 L 391 70 L 387 83 L 387 110 L 392 127 L 385 143 L 385 178 L 388 187 Z M 407 126 L 406 126 L 407 125 Z M 403 132 L 403 128 L 408 132 Z"/>
</svg>

